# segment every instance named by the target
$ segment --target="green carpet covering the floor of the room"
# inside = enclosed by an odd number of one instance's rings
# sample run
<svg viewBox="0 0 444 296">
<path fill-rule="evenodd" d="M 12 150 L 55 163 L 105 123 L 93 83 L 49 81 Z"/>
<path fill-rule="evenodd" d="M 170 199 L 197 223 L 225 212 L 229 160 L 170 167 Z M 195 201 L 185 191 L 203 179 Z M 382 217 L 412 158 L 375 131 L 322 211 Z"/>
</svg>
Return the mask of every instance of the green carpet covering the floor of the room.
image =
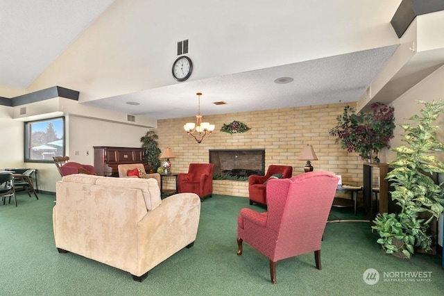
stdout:
<svg viewBox="0 0 444 296">
<path fill-rule="evenodd" d="M 214 195 L 202 203 L 194 247 L 157 265 L 142 282 L 128 272 L 76 254 L 58 254 L 53 242 L 54 197 L 18 195 L 19 206 L 0 204 L 0 295 L 443 295 L 441 255 L 411 260 L 382 252 L 366 222 L 329 223 L 321 252 L 278 262 L 276 285 L 268 259 L 244 243 L 237 256 L 236 218 L 248 199 Z M 361 218 L 351 209 L 332 208 L 330 220 Z M 350 215 L 351 213 L 351 215 Z M 379 282 L 368 285 L 374 268 Z M 431 281 L 388 281 L 384 272 L 430 272 Z"/>
</svg>

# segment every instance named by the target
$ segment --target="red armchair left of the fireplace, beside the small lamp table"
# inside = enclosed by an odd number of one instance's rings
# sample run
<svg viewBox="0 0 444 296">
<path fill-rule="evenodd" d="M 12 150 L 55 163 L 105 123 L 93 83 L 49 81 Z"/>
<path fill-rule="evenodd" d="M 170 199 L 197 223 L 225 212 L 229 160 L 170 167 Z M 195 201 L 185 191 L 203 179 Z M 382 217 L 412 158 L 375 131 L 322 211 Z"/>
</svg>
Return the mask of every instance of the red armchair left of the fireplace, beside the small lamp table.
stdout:
<svg viewBox="0 0 444 296">
<path fill-rule="evenodd" d="M 213 169 L 212 163 L 190 163 L 188 173 L 178 174 L 179 193 L 196 193 L 200 201 L 205 197 L 212 197 Z"/>
</svg>

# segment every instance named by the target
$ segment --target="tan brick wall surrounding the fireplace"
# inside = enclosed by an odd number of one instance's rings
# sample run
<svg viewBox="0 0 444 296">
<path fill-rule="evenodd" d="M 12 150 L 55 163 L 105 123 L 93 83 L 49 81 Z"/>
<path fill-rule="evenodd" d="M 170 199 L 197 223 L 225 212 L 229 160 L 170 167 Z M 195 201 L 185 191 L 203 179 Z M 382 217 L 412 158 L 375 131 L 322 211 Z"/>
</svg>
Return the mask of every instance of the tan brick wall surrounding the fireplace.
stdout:
<svg viewBox="0 0 444 296">
<path fill-rule="evenodd" d="M 265 168 L 272 164 L 293 166 L 293 176 L 301 174 L 305 161 L 298 161 L 303 145 L 313 145 L 318 161 L 314 170 L 341 174 L 343 183 L 362 184 L 362 161 L 357 154 L 348 154 L 335 143 L 328 130 L 336 125 L 336 117 L 346 104 L 330 104 L 273 110 L 205 115 L 203 121 L 216 125 L 210 138 L 198 144 L 183 129 L 196 117 L 159 120 L 155 132 L 159 147 L 171 147 L 176 158 L 171 159 L 172 172 L 187 172 L 189 163 L 209 162 L 209 149 L 265 149 Z M 223 108 L 223 106 L 221 107 Z M 243 122 L 250 131 L 233 134 L 219 131 L 233 120 Z M 230 183 L 231 182 L 231 183 Z M 173 188 L 172 183 L 167 183 Z M 248 197 L 248 182 L 215 181 L 214 193 Z"/>
</svg>

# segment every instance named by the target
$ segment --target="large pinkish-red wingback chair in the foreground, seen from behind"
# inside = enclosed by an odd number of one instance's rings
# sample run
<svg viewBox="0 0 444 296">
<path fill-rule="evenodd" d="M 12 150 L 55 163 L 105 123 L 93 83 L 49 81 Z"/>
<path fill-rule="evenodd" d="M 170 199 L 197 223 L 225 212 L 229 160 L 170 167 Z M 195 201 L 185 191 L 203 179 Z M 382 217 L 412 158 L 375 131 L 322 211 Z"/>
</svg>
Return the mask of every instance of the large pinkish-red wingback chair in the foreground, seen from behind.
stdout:
<svg viewBox="0 0 444 296">
<path fill-rule="evenodd" d="M 321 270 L 321 240 L 339 178 L 330 172 L 307 172 L 273 179 L 266 186 L 267 212 L 242 208 L 237 218 L 237 255 L 245 241 L 270 260 L 271 282 L 276 262 L 314 252 Z"/>
</svg>

